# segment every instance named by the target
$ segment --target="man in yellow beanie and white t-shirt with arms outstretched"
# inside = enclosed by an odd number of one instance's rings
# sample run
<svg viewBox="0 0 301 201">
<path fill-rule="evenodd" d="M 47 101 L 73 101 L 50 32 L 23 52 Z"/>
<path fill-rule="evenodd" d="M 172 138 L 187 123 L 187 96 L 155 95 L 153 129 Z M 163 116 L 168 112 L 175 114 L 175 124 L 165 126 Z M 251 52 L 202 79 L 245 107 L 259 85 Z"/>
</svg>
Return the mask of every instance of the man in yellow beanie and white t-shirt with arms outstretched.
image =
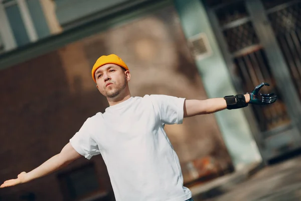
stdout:
<svg viewBox="0 0 301 201">
<path fill-rule="evenodd" d="M 88 118 L 62 151 L 41 166 L 0 187 L 13 186 L 54 172 L 81 156 L 101 154 L 117 201 L 193 200 L 183 186 L 178 156 L 164 131 L 166 124 L 181 124 L 183 118 L 238 109 L 248 104 L 272 104 L 274 94 L 259 94 L 261 83 L 249 94 L 186 100 L 168 95 L 132 97 L 130 72 L 117 56 L 98 58 L 92 78 L 107 97 L 105 113 Z"/>
</svg>

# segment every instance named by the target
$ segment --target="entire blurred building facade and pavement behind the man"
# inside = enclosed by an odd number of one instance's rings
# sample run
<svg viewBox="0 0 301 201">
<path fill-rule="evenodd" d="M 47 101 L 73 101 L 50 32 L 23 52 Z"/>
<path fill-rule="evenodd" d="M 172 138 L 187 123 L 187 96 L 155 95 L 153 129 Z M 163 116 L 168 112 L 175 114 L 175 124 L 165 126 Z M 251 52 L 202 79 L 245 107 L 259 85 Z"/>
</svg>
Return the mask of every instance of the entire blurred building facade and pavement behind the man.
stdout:
<svg viewBox="0 0 301 201">
<path fill-rule="evenodd" d="M 301 200 L 300 28 L 301 1 L 0 0 L 0 183 L 59 153 L 104 112 L 90 72 L 117 54 L 133 96 L 206 99 L 270 83 L 261 91 L 277 94 L 273 105 L 166 131 L 195 201 Z M 2 188 L 0 200 L 115 199 L 97 155 Z"/>
</svg>

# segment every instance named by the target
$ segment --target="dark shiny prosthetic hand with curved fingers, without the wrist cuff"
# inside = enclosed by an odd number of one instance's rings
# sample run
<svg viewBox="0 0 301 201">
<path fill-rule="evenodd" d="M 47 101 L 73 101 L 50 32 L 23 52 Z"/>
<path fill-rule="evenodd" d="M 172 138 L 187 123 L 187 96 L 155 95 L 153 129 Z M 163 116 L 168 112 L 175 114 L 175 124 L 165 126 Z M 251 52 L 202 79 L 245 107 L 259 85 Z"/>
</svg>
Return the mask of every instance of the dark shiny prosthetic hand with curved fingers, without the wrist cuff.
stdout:
<svg viewBox="0 0 301 201">
<path fill-rule="evenodd" d="M 253 91 L 250 94 L 250 102 L 249 104 L 254 104 L 254 105 L 268 105 L 268 104 L 272 104 L 277 100 L 277 95 L 275 95 L 274 93 L 268 93 L 268 94 L 262 94 L 259 93 L 259 90 L 262 86 L 269 86 L 269 83 L 266 82 L 262 82 L 261 84 L 258 84 L 257 86 L 255 86 L 255 88 L 253 89 Z"/>
</svg>

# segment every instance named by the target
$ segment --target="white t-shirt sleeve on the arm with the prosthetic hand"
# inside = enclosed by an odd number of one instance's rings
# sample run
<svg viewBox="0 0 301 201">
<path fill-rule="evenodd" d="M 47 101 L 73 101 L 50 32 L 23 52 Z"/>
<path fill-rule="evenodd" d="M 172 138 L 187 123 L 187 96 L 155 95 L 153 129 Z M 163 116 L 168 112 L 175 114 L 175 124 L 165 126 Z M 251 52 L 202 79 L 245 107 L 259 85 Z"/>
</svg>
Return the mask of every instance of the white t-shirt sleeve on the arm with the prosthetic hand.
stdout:
<svg viewBox="0 0 301 201">
<path fill-rule="evenodd" d="M 185 98 L 170 95 L 150 95 L 150 98 L 162 123 L 183 123 Z"/>
</svg>

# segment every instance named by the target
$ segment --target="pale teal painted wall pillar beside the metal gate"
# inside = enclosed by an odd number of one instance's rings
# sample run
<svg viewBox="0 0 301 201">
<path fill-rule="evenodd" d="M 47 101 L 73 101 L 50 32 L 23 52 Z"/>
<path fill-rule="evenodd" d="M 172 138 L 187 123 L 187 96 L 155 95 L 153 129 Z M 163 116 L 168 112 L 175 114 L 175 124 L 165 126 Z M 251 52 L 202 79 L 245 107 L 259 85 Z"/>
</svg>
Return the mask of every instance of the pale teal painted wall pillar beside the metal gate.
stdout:
<svg viewBox="0 0 301 201">
<path fill-rule="evenodd" d="M 196 64 L 209 98 L 237 94 L 201 0 L 174 0 L 186 38 L 205 33 L 213 54 Z M 246 91 L 247 92 L 247 91 Z M 236 169 L 261 161 L 261 156 L 242 110 L 215 113 Z"/>
</svg>

